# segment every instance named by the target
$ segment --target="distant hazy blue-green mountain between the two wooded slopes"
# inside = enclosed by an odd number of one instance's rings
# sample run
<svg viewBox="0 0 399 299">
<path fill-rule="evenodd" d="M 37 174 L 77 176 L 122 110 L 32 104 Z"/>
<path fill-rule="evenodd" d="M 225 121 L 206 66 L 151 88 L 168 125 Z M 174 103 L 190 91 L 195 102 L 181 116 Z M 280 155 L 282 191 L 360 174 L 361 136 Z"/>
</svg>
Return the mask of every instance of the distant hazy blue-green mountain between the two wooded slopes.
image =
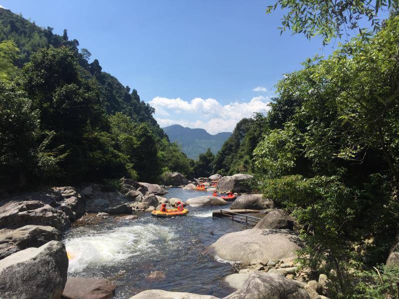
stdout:
<svg viewBox="0 0 399 299">
<path fill-rule="evenodd" d="M 198 159 L 200 153 L 210 148 L 216 153 L 223 143 L 230 137 L 230 132 L 211 135 L 203 129 L 191 129 L 180 125 L 172 125 L 163 128 L 171 142 L 177 142 L 182 146 L 182 151 L 192 159 Z"/>
</svg>

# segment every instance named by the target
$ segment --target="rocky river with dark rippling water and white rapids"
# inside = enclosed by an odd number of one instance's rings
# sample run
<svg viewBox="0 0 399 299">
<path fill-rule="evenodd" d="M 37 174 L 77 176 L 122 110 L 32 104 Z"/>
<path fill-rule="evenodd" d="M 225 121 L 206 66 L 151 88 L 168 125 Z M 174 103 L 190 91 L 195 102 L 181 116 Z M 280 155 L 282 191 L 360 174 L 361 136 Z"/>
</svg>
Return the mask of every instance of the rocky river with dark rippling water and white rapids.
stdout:
<svg viewBox="0 0 399 299">
<path fill-rule="evenodd" d="M 209 193 L 170 188 L 167 198 L 186 200 Z M 232 266 L 203 255 L 204 247 L 220 236 L 248 228 L 226 218 L 212 218 L 220 207 L 189 207 L 185 217 L 156 218 L 139 214 L 138 220 L 114 218 L 73 226 L 65 235 L 69 277 L 106 278 L 117 286 L 115 298 L 126 299 L 148 289 L 190 292 L 222 298 L 219 288 Z M 150 281 L 152 271 L 165 279 Z"/>
</svg>

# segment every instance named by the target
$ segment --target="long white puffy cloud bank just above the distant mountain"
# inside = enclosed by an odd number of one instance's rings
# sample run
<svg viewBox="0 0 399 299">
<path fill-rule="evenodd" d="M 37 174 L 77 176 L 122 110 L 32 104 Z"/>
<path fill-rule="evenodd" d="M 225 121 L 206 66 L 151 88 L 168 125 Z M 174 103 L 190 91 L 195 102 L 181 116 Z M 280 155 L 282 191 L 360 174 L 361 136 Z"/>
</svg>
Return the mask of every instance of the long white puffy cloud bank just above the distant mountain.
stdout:
<svg viewBox="0 0 399 299">
<path fill-rule="evenodd" d="M 181 98 L 155 97 L 150 105 L 155 108 L 155 118 L 161 127 L 179 124 L 190 128 L 202 128 L 210 134 L 232 132 L 237 122 L 251 117 L 255 112 L 266 112 L 269 97 L 258 96 L 249 102 L 232 102 L 222 105 L 215 99 L 195 98 L 190 102 Z M 174 115 L 176 119 L 164 116 Z"/>
</svg>

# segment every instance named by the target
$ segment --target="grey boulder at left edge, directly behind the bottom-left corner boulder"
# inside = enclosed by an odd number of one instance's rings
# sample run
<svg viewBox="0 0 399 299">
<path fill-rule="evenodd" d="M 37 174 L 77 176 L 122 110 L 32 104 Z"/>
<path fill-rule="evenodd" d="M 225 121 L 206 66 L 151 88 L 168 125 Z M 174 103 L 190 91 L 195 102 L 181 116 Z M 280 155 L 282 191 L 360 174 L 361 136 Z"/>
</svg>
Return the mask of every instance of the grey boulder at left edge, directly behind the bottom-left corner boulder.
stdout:
<svg viewBox="0 0 399 299">
<path fill-rule="evenodd" d="M 39 247 L 52 240 L 61 241 L 61 233 L 51 226 L 25 225 L 0 230 L 0 260 L 28 247 Z"/>
</svg>

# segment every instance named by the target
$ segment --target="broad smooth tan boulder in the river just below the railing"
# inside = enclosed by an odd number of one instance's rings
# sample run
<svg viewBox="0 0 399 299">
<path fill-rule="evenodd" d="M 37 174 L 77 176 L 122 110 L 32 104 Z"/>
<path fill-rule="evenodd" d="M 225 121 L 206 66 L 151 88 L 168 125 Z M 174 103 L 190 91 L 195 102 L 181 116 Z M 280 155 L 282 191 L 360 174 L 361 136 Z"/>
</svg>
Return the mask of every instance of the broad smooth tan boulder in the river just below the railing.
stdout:
<svg viewBox="0 0 399 299">
<path fill-rule="evenodd" d="M 294 260 L 301 247 L 301 239 L 292 231 L 253 228 L 225 234 L 205 252 L 226 261 L 250 265 L 266 264 L 269 260 Z"/>
</svg>

